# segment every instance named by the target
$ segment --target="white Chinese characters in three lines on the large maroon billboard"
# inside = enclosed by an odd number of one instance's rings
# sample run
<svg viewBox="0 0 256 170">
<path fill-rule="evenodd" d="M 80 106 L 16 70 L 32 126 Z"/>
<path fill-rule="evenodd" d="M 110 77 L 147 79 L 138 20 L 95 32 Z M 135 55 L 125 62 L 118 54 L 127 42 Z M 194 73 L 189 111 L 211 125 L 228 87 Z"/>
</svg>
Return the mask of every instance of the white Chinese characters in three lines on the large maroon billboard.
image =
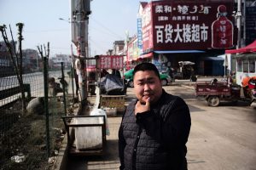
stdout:
<svg viewBox="0 0 256 170">
<path fill-rule="evenodd" d="M 156 32 L 156 43 L 172 42 L 207 42 L 209 26 L 205 23 L 195 24 L 198 14 L 209 14 L 210 6 L 200 5 L 156 5 L 155 14 L 170 14 L 170 16 L 159 15 L 158 20 L 183 21 L 183 24 L 166 24 L 165 26 L 154 26 Z M 186 23 L 192 21 L 192 23 Z"/>
</svg>

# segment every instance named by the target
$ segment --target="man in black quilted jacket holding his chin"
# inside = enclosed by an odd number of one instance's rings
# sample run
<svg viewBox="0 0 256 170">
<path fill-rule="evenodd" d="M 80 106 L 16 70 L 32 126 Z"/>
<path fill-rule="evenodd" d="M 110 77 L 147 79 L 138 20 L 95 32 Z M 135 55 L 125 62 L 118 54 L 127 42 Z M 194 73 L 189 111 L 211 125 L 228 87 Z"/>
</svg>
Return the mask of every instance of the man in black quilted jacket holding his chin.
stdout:
<svg viewBox="0 0 256 170">
<path fill-rule="evenodd" d="M 151 63 L 135 67 L 133 82 L 137 100 L 128 106 L 119 127 L 120 169 L 188 169 L 188 105 L 166 93 L 160 73 Z"/>
</svg>

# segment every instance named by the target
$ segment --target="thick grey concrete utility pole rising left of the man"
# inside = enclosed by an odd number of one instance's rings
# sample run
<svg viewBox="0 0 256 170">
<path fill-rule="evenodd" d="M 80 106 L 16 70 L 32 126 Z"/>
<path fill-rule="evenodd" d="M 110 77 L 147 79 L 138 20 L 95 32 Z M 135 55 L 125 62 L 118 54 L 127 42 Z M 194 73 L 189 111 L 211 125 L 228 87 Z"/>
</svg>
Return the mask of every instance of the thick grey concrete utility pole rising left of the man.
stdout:
<svg viewBox="0 0 256 170">
<path fill-rule="evenodd" d="M 70 0 L 72 41 L 77 47 L 79 57 L 75 61 L 79 80 L 80 101 L 83 105 L 87 100 L 86 58 L 88 57 L 88 23 L 90 0 Z"/>
</svg>

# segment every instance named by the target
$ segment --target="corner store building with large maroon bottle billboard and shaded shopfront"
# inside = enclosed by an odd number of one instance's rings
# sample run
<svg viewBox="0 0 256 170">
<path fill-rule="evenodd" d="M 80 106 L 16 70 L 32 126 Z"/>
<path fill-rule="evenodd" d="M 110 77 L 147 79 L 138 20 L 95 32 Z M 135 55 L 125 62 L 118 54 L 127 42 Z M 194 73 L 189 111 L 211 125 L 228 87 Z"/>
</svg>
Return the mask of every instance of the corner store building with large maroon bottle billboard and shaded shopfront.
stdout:
<svg viewBox="0 0 256 170">
<path fill-rule="evenodd" d="M 128 43 L 127 57 L 130 61 L 149 59 L 160 71 L 166 70 L 167 64 L 178 69 L 179 61 L 192 61 L 197 74 L 215 74 L 205 72 L 207 63 L 212 62 L 216 68 L 218 59 L 212 57 L 224 54 L 227 48 L 236 47 L 233 10 L 233 0 L 140 3 L 138 36 L 137 40 Z M 134 48 L 136 42 L 137 48 Z M 131 56 L 131 50 L 138 51 L 138 56 Z"/>
</svg>

